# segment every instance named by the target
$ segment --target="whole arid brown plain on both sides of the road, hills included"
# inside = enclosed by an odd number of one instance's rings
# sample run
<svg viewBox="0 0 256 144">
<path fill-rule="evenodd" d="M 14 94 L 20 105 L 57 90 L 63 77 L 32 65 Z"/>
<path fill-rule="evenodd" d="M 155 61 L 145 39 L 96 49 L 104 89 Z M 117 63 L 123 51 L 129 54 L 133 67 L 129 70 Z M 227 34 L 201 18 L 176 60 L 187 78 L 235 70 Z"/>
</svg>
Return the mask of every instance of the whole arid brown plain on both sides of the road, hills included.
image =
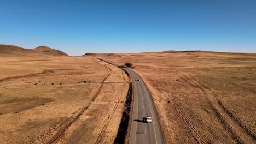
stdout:
<svg viewBox="0 0 256 144">
<path fill-rule="evenodd" d="M 8 45 L 0 45 L 0 143 L 113 143 L 130 80 L 97 58 L 133 64 L 165 143 L 256 143 L 256 53 L 69 57 Z"/>
</svg>

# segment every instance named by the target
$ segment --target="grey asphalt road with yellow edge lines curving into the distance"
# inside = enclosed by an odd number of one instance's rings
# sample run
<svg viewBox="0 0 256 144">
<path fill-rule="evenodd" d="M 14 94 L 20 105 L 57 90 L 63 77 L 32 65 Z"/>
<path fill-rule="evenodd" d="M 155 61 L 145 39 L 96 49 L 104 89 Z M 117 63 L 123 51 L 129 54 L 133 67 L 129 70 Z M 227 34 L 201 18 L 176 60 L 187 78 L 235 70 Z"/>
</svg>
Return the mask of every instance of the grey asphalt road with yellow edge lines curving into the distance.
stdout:
<svg viewBox="0 0 256 144">
<path fill-rule="evenodd" d="M 121 65 L 101 59 L 102 61 L 120 67 Z M 162 143 L 162 135 L 159 127 L 158 117 L 156 115 L 155 107 L 151 95 L 144 82 L 137 81 L 141 79 L 130 68 L 123 67 L 132 78 L 133 81 L 133 93 L 134 93 L 134 105 L 133 116 L 131 124 L 131 133 L 129 143 Z M 143 117 L 151 116 L 152 123 L 143 122 Z"/>
</svg>

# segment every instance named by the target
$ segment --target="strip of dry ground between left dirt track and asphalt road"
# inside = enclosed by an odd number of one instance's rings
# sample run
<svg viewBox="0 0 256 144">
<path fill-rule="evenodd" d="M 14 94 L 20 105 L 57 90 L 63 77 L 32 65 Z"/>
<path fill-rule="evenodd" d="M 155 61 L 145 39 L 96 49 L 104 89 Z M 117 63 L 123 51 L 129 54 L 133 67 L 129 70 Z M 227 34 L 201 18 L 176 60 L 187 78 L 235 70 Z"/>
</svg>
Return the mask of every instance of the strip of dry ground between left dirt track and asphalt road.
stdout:
<svg viewBox="0 0 256 144">
<path fill-rule="evenodd" d="M 128 85 L 125 73 L 115 66 L 93 60 L 103 65 L 108 70 L 108 74 L 100 79 L 100 88 L 95 97 L 86 106 L 86 109 L 88 109 L 91 105 L 88 111 L 83 111 L 69 125 L 70 127 L 68 126 L 62 131 L 60 136 L 56 137 L 54 143 L 109 143 L 114 141 L 114 137 L 118 133 L 117 123 L 121 120 L 121 111 L 124 109 L 125 103 L 126 85 Z M 113 93 L 109 93 L 109 91 L 113 91 Z M 113 98 L 110 98 L 111 95 Z M 103 105 L 106 106 L 104 110 L 101 107 Z M 104 115 L 98 115 L 99 111 L 104 111 Z M 90 118 L 98 121 L 97 125 L 92 124 L 90 126 Z M 90 132 L 88 133 L 88 131 Z M 92 138 L 88 140 L 88 136 Z"/>
</svg>

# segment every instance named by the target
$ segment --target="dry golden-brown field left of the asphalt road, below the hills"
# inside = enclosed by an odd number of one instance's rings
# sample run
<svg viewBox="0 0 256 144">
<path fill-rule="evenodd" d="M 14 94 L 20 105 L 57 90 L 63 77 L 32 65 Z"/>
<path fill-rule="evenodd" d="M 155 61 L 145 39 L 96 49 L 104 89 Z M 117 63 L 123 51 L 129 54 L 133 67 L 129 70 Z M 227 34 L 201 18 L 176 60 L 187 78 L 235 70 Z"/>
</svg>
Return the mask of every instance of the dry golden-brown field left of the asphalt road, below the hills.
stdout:
<svg viewBox="0 0 256 144">
<path fill-rule="evenodd" d="M 0 55 L 0 143 L 113 143 L 127 75 L 93 57 L 42 52 Z"/>
</svg>

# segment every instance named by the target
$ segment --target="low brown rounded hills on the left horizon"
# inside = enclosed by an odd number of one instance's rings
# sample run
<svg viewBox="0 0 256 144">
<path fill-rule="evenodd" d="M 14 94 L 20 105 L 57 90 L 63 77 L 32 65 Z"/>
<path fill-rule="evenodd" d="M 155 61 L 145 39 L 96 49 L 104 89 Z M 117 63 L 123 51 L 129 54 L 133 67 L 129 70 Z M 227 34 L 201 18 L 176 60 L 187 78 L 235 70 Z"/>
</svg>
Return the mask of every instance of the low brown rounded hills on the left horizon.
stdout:
<svg viewBox="0 0 256 144">
<path fill-rule="evenodd" d="M 54 56 L 68 56 L 67 53 L 51 49 L 47 46 L 39 46 L 35 49 L 24 49 L 15 45 L 0 45 L 0 54 L 4 55 L 54 55 Z"/>
</svg>

